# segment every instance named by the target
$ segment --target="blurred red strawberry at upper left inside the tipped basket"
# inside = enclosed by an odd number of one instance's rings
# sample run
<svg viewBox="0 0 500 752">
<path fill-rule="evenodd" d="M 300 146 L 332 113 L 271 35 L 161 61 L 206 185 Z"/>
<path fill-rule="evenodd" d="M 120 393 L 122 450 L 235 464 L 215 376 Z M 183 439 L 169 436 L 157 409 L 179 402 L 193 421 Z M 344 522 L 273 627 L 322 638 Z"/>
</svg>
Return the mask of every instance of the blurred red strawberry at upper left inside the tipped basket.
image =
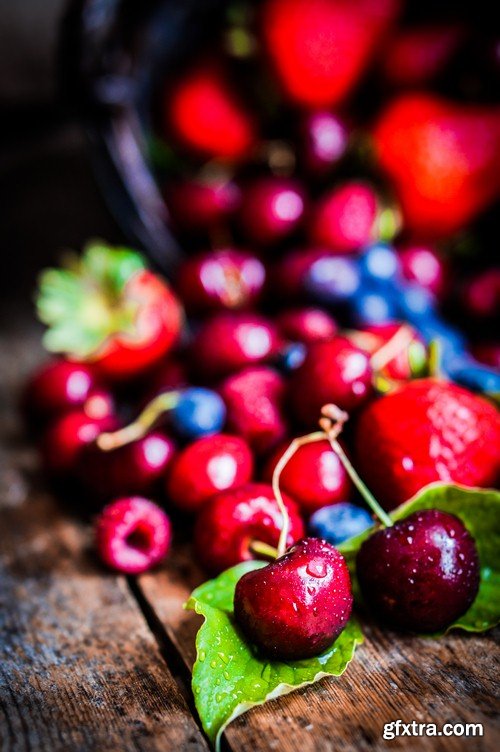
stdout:
<svg viewBox="0 0 500 752">
<path fill-rule="evenodd" d="M 250 115 L 216 66 L 196 68 L 169 93 L 165 125 L 186 146 L 217 159 L 243 159 L 255 141 Z"/>
</svg>

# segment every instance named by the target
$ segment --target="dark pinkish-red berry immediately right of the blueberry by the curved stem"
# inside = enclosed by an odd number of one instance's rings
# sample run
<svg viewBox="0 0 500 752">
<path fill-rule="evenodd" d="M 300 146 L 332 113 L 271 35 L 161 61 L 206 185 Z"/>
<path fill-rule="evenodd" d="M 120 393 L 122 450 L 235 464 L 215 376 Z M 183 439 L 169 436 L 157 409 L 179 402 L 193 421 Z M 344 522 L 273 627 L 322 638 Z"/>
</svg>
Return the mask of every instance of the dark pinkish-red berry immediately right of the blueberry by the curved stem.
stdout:
<svg viewBox="0 0 500 752">
<path fill-rule="evenodd" d="M 220 387 L 227 407 L 228 427 L 243 436 L 259 455 L 275 447 L 286 435 L 284 392 L 283 377 L 267 366 L 245 368 L 229 376 Z"/>
</svg>

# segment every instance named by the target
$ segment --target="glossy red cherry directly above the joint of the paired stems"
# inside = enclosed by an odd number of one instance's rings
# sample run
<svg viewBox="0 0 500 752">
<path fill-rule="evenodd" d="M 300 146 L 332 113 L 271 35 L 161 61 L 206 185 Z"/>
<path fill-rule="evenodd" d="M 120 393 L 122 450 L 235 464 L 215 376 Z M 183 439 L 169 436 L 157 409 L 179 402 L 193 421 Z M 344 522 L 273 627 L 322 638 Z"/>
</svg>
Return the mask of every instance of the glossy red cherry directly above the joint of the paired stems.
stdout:
<svg viewBox="0 0 500 752">
<path fill-rule="evenodd" d="M 371 380 L 367 353 L 346 337 L 314 342 L 290 379 L 288 401 L 297 419 L 312 427 L 329 402 L 348 412 L 363 404 L 373 392 Z"/>
</svg>

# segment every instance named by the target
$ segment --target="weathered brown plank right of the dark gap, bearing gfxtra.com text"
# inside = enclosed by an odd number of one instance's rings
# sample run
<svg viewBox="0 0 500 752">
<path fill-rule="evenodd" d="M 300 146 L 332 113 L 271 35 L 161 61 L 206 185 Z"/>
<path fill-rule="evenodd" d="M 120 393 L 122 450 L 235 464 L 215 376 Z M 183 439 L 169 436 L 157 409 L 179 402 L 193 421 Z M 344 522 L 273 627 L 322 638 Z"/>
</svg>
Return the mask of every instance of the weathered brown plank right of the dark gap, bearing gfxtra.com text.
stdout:
<svg viewBox="0 0 500 752">
<path fill-rule="evenodd" d="M 203 574 L 189 547 L 166 568 L 139 579 L 142 592 L 187 667 L 194 660 L 199 617 L 182 603 Z M 493 750 L 500 726 L 496 678 L 499 651 L 491 634 L 426 640 L 366 629 L 344 676 L 255 708 L 237 719 L 226 738 L 234 750 L 353 752 L 398 747 L 411 750 Z M 384 723 L 483 723 L 482 738 L 382 738 Z"/>
</svg>

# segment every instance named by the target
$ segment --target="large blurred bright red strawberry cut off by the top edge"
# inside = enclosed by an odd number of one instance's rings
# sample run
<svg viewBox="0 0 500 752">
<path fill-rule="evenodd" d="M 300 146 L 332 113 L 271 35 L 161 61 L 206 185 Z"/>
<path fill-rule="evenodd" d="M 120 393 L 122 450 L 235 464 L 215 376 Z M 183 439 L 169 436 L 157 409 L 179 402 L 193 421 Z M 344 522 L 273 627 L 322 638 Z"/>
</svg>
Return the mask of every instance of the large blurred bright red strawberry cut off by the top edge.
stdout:
<svg viewBox="0 0 500 752">
<path fill-rule="evenodd" d="M 399 0 L 267 0 L 263 33 L 287 95 L 337 105 L 361 77 Z"/>
</svg>

